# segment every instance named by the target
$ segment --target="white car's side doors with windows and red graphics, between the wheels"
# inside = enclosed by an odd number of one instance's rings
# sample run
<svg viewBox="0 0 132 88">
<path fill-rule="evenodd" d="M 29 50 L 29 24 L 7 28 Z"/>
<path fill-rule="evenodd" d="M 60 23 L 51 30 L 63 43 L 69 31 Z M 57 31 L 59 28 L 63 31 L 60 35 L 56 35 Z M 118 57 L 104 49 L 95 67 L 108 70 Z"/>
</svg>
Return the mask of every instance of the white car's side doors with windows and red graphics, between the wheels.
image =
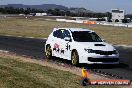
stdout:
<svg viewBox="0 0 132 88">
<path fill-rule="evenodd" d="M 53 56 L 60 57 L 63 59 L 68 59 L 70 54 L 69 41 L 65 41 L 65 37 L 70 37 L 70 33 L 66 29 L 59 29 L 53 33 Z"/>
</svg>

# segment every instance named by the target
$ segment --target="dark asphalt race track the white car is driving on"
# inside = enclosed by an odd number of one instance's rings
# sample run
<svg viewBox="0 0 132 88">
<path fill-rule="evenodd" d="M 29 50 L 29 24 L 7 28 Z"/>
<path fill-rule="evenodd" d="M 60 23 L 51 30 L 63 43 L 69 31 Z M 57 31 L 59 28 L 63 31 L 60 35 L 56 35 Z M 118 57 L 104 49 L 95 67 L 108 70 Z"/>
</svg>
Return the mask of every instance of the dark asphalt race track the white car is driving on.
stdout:
<svg viewBox="0 0 132 88">
<path fill-rule="evenodd" d="M 46 39 L 0 36 L 0 50 L 35 59 L 45 59 Z M 116 47 L 120 53 L 119 65 L 84 65 L 88 69 L 116 78 L 132 80 L 132 48 Z M 81 65 L 83 66 L 83 65 Z"/>
</svg>

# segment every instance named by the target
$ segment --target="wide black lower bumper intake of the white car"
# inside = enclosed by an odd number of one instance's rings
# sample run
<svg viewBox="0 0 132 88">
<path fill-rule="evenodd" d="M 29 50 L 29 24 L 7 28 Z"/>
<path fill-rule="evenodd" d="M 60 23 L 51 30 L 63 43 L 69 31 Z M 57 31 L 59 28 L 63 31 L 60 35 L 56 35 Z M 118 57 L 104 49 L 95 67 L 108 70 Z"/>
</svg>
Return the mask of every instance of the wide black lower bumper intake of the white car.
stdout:
<svg viewBox="0 0 132 88">
<path fill-rule="evenodd" d="M 92 58 L 92 57 L 89 57 L 88 61 L 91 61 L 91 62 L 118 62 L 119 58 Z"/>
</svg>

